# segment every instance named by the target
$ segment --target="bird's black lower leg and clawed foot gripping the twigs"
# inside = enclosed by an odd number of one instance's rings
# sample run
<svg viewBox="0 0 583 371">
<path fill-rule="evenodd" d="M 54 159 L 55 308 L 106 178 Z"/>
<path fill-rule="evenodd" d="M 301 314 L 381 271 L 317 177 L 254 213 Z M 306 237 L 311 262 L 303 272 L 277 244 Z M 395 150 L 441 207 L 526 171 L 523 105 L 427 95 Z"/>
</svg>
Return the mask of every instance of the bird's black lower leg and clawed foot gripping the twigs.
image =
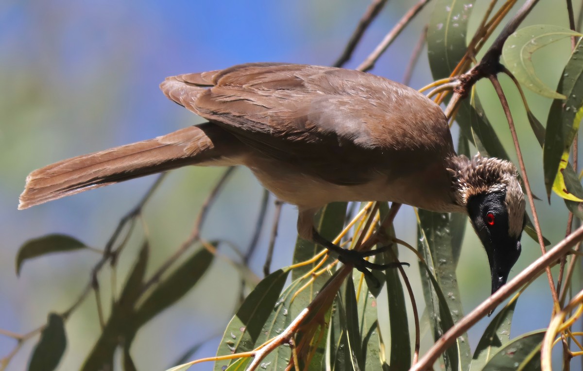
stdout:
<svg viewBox="0 0 583 371">
<path fill-rule="evenodd" d="M 376 250 L 369 250 L 369 251 L 357 251 L 357 250 L 349 250 L 343 249 L 340 246 L 333 244 L 332 242 L 328 241 L 321 234 L 318 233 L 316 228 L 312 227 L 312 240 L 320 245 L 324 246 L 329 251 L 338 255 L 338 260 L 343 264 L 352 264 L 354 268 L 361 271 L 364 274 L 371 274 L 369 269 L 371 270 L 385 270 L 388 268 L 396 268 L 402 265 L 409 266 L 409 263 L 387 263 L 387 264 L 377 264 L 369 262 L 368 260 L 364 259 L 367 256 L 373 256 L 385 252 L 389 246 L 384 246 L 383 248 L 376 249 Z"/>
</svg>

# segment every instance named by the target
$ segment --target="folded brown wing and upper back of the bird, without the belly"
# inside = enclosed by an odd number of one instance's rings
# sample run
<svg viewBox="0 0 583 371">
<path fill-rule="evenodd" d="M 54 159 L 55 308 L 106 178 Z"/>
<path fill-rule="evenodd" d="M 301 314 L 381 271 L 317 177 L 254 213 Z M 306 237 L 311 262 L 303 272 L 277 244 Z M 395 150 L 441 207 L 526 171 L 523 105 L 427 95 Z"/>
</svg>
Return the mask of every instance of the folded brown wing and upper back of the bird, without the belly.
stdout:
<svg viewBox="0 0 583 371">
<path fill-rule="evenodd" d="M 368 73 L 250 63 L 168 77 L 161 89 L 259 153 L 304 171 L 310 164 L 309 172 L 334 183 L 367 182 L 453 153 L 436 104 Z"/>
</svg>

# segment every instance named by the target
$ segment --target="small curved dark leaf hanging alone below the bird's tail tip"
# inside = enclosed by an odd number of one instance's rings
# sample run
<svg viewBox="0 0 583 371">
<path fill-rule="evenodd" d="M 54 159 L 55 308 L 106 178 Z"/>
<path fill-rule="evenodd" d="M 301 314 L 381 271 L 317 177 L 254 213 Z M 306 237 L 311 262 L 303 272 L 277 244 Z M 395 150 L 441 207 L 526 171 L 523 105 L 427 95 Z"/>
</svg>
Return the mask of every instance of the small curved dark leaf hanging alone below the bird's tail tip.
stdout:
<svg viewBox="0 0 583 371">
<path fill-rule="evenodd" d="M 45 254 L 85 249 L 85 243 L 71 236 L 51 234 L 40 238 L 29 239 L 20 246 L 16 256 L 16 275 L 20 275 L 20 268 L 25 260 L 33 259 Z"/>
</svg>

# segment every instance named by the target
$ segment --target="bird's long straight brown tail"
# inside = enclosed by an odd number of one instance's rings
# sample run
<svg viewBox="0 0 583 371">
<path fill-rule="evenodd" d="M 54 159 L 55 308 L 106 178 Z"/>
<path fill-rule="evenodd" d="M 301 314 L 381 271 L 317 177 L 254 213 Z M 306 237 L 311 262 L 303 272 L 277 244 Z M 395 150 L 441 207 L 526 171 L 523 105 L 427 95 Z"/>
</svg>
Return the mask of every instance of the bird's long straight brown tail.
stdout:
<svg viewBox="0 0 583 371">
<path fill-rule="evenodd" d="M 203 123 L 143 142 L 69 158 L 31 172 L 18 209 L 185 165 L 234 165 L 239 147 L 240 142 L 229 133 L 212 123 Z"/>
</svg>

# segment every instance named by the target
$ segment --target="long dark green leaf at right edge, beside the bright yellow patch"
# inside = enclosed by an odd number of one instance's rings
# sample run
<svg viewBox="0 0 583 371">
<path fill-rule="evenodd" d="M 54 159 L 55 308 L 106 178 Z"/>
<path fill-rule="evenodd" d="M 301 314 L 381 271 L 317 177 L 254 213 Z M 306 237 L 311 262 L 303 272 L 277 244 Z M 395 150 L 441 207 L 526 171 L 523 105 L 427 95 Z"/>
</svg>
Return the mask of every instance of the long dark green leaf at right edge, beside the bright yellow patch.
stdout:
<svg viewBox="0 0 583 371">
<path fill-rule="evenodd" d="M 582 50 L 583 44 L 578 43 L 559 80 L 557 91 L 566 96 L 567 100 L 554 100 L 547 118 L 543 149 L 547 197 L 550 197 L 561 158 L 564 153 L 568 153 L 579 127 L 580 118 L 575 122 L 575 116 L 583 105 L 583 58 L 578 58 Z"/>
</svg>

